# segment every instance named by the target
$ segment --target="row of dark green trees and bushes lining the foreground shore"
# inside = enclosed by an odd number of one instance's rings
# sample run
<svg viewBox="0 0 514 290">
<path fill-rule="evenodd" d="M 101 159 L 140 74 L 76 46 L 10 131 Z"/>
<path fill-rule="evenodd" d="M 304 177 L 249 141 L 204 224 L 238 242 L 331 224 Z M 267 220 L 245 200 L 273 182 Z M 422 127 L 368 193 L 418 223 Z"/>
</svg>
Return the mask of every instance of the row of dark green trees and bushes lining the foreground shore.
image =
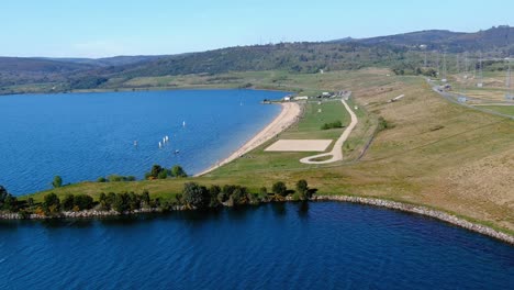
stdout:
<svg viewBox="0 0 514 290">
<path fill-rule="evenodd" d="M 32 198 L 19 201 L 9 194 L 0 186 L 0 210 L 19 212 L 27 215 L 31 213 L 47 216 L 57 215 L 63 211 L 83 211 L 98 209 L 101 211 L 114 210 L 123 213 L 143 208 L 160 208 L 170 210 L 172 205 L 186 205 L 195 209 L 208 209 L 219 207 L 235 207 L 238 204 L 258 204 L 267 201 L 283 201 L 286 197 L 292 196 L 294 200 L 308 200 L 314 190 L 309 188 L 305 180 L 299 180 L 295 190 L 288 189 L 284 182 L 278 181 L 272 185 L 271 192 L 266 187 L 259 192 L 250 192 L 246 187 L 236 185 L 211 186 L 209 188 L 195 182 L 187 182 L 181 193 L 176 194 L 175 200 L 161 202 L 159 198 L 150 199 L 148 191 L 141 194 L 135 192 L 100 193 L 98 201 L 88 194 L 66 194 L 62 198 L 52 192 L 43 198 L 42 202 L 35 203 Z"/>
</svg>

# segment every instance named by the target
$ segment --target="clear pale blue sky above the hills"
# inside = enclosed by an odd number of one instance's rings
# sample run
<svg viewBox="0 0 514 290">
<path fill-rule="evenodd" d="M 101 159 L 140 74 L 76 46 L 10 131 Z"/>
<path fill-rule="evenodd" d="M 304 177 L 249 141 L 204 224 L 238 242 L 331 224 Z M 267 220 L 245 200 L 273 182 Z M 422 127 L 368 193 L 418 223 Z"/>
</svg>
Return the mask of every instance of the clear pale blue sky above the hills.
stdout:
<svg viewBox="0 0 514 290">
<path fill-rule="evenodd" d="M 0 56 L 109 57 L 513 25 L 512 0 L 1 0 Z"/>
</svg>

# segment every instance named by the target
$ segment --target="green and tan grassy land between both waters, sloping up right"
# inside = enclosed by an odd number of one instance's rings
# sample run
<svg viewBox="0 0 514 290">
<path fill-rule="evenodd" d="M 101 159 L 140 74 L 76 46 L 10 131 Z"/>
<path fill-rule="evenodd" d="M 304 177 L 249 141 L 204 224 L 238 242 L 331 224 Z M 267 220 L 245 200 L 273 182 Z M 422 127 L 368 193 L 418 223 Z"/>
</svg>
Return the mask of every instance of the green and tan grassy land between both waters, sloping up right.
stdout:
<svg viewBox="0 0 514 290">
<path fill-rule="evenodd" d="M 266 80 L 270 71 L 252 72 L 259 86 L 278 86 Z M 244 76 L 245 74 L 238 74 Z M 212 174 L 194 178 L 204 185 L 237 183 L 257 191 L 283 180 L 293 187 L 306 179 L 323 194 L 354 194 L 423 204 L 514 233 L 514 121 L 449 103 L 433 92 L 420 77 L 389 76 L 386 69 L 335 71 L 324 75 L 277 72 L 280 87 L 295 90 L 342 90 L 354 92 L 359 125 L 344 146 L 343 163 L 306 166 L 298 159 L 309 154 L 264 153 L 262 146 Z M 243 77 L 242 77 L 243 78 Z M 400 94 L 396 102 L 388 100 Z M 333 107 L 332 107 L 333 105 Z M 316 129 L 325 120 L 343 113 L 336 103 L 305 107 L 304 118 L 280 137 L 336 136 L 339 130 Z M 329 107 L 329 108 L 328 108 Z M 376 133 L 382 116 L 388 129 Z M 345 120 L 347 122 L 347 116 Z M 369 149 L 357 160 L 364 146 L 375 136 Z M 55 190 L 56 193 L 142 191 L 172 198 L 185 180 L 121 183 L 82 183 Z M 43 193 L 36 194 L 41 199 Z"/>
</svg>

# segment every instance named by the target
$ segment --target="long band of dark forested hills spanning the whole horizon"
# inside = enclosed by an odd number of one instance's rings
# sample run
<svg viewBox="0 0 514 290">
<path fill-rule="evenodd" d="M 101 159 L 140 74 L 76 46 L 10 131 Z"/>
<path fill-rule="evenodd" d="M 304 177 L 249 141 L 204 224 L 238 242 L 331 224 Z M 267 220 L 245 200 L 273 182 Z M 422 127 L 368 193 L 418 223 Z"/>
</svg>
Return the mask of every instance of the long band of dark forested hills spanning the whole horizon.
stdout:
<svg viewBox="0 0 514 290">
<path fill-rule="evenodd" d="M 168 56 L 100 59 L 0 57 L 0 93 L 111 88 L 109 86 L 115 86 L 113 83 L 136 77 L 248 70 L 311 74 L 320 69 L 377 66 L 395 68 L 395 71 L 402 72 L 420 72 L 426 52 L 466 52 L 474 58 L 479 55 L 503 58 L 514 55 L 513 41 L 514 27 L 499 26 L 476 33 L 422 31 L 364 40 L 348 37 L 320 43 L 236 46 Z"/>
</svg>

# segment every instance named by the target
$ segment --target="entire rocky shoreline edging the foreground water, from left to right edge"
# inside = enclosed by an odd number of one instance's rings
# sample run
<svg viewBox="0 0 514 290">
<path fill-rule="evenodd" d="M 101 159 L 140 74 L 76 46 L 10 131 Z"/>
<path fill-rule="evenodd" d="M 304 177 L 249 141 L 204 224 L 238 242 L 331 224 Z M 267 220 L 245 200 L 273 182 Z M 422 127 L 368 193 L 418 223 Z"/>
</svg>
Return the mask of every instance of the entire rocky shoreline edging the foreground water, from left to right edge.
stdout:
<svg viewBox="0 0 514 290">
<path fill-rule="evenodd" d="M 292 199 L 287 198 L 286 201 L 292 201 Z M 499 232 L 485 225 L 466 221 L 463 219 L 457 217 L 449 213 L 428 209 L 428 208 L 421 207 L 421 205 L 413 205 L 413 204 L 382 200 L 382 199 L 359 198 L 359 197 L 349 197 L 349 196 L 315 196 L 311 199 L 311 201 L 351 202 L 351 203 L 368 204 L 368 205 L 375 205 L 375 207 L 388 208 L 392 210 L 422 214 L 422 215 L 431 216 L 439 221 L 447 222 L 447 223 L 463 227 L 466 230 L 473 231 L 482 235 L 487 235 L 487 236 L 503 241 L 505 243 L 509 243 L 511 245 L 514 245 L 514 236 L 512 235 Z M 191 209 L 186 205 L 174 205 L 171 209 L 169 209 L 169 211 L 186 211 L 186 210 L 191 210 Z M 87 211 L 79 211 L 79 212 L 67 211 L 67 212 L 62 212 L 58 215 L 52 215 L 52 216 L 45 216 L 45 215 L 38 215 L 38 214 L 30 214 L 30 215 L 23 216 L 20 213 L 0 212 L 0 220 L 93 219 L 93 217 L 108 217 L 108 216 L 118 216 L 118 215 L 161 213 L 161 212 L 163 212 L 163 209 L 158 209 L 158 208 L 145 208 L 145 209 L 127 211 L 123 213 L 119 213 L 113 210 L 111 211 L 87 210 Z"/>
</svg>

